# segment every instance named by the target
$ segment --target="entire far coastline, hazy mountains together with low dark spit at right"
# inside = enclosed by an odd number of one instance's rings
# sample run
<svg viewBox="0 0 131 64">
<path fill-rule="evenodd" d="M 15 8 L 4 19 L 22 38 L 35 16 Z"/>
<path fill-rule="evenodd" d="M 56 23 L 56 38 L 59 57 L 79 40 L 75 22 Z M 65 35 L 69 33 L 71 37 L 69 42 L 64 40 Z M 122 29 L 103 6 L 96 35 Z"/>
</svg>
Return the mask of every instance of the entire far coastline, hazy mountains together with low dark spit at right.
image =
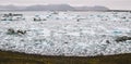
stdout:
<svg viewBox="0 0 131 64">
<path fill-rule="evenodd" d="M 14 12 L 14 11 L 73 11 L 73 12 L 131 12 L 131 10 L 111 10 L 107 7 L 71 7 L 70 4 L 48 4 L 48 5 L 0 5 L 0 11 Z"/>
</svg>

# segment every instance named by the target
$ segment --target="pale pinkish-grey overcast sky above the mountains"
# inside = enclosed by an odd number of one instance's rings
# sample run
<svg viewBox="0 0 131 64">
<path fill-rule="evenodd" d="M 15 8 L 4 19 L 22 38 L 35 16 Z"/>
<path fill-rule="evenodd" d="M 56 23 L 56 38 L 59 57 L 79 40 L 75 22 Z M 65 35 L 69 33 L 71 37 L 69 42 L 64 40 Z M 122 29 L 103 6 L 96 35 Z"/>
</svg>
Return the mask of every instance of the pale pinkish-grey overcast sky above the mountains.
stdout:
<svg viewBox="0 0 131 64">
<path fill-rule="evenodd" d="M 33 4 L 71 4 L 78 5 L 104 5 L 109 9 L 131 10 L 131 0 L 0 0 L 0 4 L 33 5 Z"/>
</svg>

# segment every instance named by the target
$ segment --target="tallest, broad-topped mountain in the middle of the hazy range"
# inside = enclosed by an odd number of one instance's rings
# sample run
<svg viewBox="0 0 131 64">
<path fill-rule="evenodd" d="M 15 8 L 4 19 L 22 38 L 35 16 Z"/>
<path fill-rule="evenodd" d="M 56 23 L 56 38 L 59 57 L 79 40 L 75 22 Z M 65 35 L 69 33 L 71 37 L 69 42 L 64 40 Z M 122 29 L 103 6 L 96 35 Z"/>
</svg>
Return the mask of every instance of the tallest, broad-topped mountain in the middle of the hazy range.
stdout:
<svg viewBox="0 0 131 64">
<path fill-rule="evenodd" d="M 32 5 L 27 7 L 25 10 L 33 10 L 33 11 L 71 11 L 74 10 L 73 7 L 68 4 L 49 4 L 49 5 Z"/>
</svg>

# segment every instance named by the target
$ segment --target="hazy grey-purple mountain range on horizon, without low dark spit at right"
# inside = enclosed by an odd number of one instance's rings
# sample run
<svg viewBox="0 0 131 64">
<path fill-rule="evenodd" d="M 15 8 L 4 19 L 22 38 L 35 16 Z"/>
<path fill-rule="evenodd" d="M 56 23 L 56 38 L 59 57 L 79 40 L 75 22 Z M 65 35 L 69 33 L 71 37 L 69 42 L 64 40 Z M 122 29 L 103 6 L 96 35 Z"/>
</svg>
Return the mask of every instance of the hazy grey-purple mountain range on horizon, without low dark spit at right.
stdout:
<svg viewBox="0 0 131 64">
<path fill-rule="evenodd" d="M 8 11 L 88 11 L 88 10 L 109 10 L 106 7 L 71 7 L 69 4 L 48 4 L 48 5 L 0 5 L 0 10 Z"/>
</svg>

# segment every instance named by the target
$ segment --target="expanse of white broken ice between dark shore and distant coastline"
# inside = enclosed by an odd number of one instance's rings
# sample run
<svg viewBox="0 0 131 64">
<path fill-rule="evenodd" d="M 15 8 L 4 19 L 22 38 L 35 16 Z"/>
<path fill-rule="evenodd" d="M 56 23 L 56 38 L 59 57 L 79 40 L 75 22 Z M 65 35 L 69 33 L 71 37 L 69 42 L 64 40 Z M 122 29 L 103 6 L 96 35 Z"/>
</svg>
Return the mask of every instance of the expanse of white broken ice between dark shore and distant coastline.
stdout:
<svg viewBox="0 0 131 64">
<path fill-rule="evenodd" d="M 12 13 L 23 14 L 23 20 L 0 21 L 0 50 L 66 56 L 131 53 L 130 40 L 115 41 L 131 37 L 131 12 Z M 9 28 L 26 34 L 9 35 Z"/>
</svg>

